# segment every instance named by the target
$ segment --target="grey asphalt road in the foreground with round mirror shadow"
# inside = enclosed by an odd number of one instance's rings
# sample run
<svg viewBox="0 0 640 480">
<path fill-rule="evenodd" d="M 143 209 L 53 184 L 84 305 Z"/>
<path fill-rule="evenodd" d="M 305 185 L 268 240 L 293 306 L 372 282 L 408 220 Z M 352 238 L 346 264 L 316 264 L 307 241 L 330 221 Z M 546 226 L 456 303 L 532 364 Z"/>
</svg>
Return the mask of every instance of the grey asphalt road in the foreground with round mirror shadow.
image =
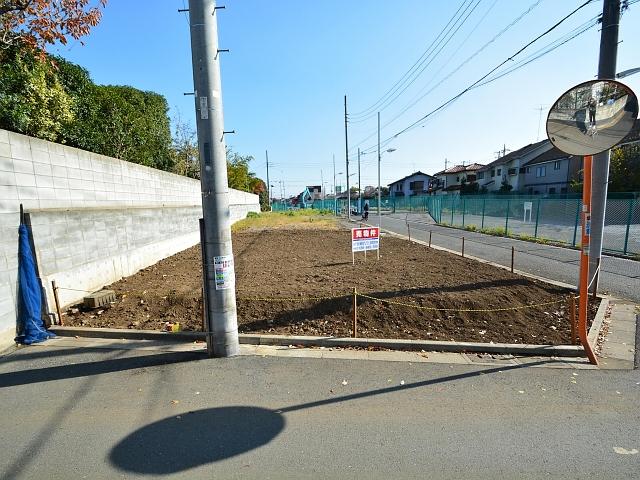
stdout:
<svg viewBox="0 0 640 480">
<path fill-rule="evenodd" d="M 0 478 L 635 479 L 639 399 L 637 370 L 31 347 Z"/>
</svg>

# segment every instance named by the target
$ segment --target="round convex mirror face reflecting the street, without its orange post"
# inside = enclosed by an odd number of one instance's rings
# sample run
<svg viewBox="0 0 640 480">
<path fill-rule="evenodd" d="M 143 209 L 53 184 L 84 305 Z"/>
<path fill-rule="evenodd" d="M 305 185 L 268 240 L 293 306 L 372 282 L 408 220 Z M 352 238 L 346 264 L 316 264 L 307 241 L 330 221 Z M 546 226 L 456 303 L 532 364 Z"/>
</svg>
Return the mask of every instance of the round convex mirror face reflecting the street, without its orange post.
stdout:
<svg viewBox="0 0 640 480">
<path fill-rule="evenodd" d="M 576 85 L 554 103 L 547 136 L 571 155 L 595 155 L 618 144 L 633 128 L 638 98 L 626 85 L 593 80 Z"/>
</svg>

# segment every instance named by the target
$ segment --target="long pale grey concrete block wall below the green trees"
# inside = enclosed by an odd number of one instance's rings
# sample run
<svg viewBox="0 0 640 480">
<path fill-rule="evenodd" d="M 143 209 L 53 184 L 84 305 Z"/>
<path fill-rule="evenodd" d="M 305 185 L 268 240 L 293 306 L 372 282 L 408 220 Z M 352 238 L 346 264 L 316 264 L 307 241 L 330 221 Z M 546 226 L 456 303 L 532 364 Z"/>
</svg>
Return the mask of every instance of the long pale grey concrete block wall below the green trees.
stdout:
<svg viewBox="0 0 640 480">
<path fill-rule="evenodd" d="M 199 241 L 199 181 L 0 130 L 0 350 L 15 336 L 21 203 L 50 304 L 52 279 L 92 291 Z M 259 210 L 230 191 L 232 221 Z"/>
</svg>

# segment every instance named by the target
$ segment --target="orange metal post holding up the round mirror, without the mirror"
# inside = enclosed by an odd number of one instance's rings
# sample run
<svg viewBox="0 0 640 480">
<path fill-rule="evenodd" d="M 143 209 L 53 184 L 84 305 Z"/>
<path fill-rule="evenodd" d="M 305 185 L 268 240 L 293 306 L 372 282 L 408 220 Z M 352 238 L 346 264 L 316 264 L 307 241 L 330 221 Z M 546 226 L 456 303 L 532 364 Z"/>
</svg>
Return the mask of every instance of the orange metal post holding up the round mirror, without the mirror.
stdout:
<svg viewBox="0 0 640 480">
<path fill-rule="evenodd" d="M 589 361 L 594 365 L 598 359 L 587 339 L 587 308 L 589 306 L 589 235 L 591 233 L 591 155 L 584 157 L 582 187 L 582 245 L 580 251 L 580 302 L 578 304 L 578 337 Z"/>
</svg>

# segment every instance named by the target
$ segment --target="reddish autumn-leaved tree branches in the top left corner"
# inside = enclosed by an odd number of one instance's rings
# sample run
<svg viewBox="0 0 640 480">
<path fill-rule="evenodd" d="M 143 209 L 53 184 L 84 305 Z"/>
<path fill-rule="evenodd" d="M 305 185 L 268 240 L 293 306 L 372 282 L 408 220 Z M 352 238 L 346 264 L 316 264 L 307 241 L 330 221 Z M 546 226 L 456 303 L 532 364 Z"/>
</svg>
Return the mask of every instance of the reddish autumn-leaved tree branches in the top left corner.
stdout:
<svg viewBox="0 0 640 480">
<path fill-rule="evenodd" d="M 107 0 L 0 0 L 0 50 L 20 46 L 39 52 L 79 40 L 102 18 Z"/>
</svg>

